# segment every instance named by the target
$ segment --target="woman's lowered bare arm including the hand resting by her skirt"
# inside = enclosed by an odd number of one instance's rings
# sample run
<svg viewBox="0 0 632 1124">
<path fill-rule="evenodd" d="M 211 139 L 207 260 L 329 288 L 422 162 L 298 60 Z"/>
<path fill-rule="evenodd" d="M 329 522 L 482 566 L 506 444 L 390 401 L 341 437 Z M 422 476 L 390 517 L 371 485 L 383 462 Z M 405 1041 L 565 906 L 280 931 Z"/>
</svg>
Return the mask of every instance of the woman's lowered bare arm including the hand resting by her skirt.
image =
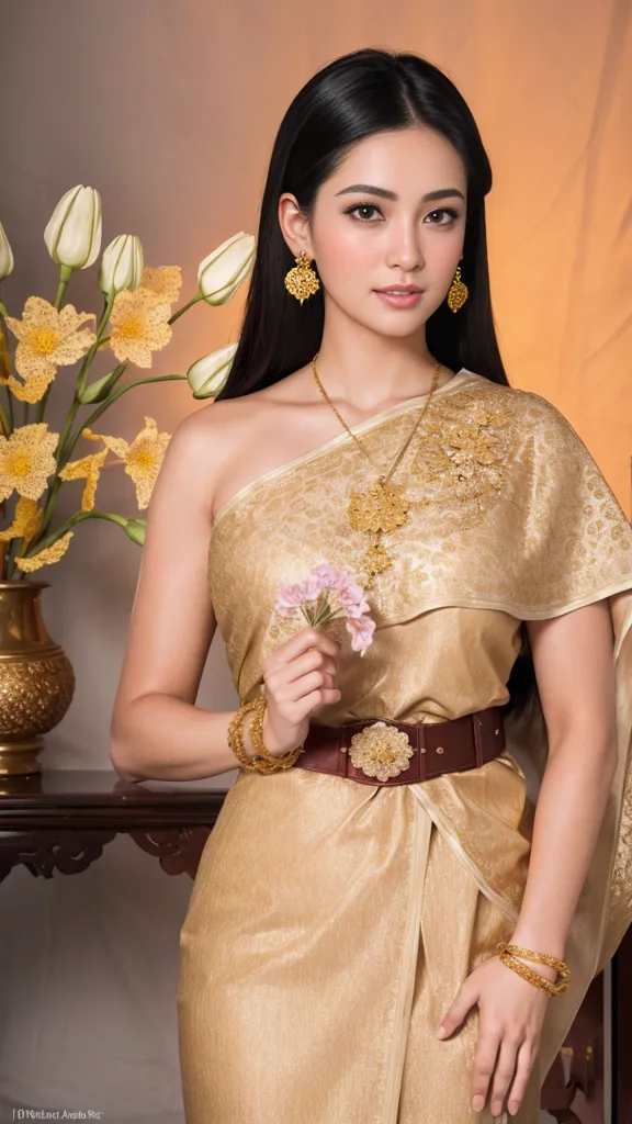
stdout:
<svg viewBox="0 0 632 1124">
<path fill-rule="evenodd" d="M 614 602 L 615 599 L 613 599 Z M 612 620 L 623 613 L 607 599 L 552 619 L 527 622 L 549 735 L 549 759 L 535 809 L 529 874 L 512 936 L 563 960 L 570 924 L 602 825 L 616 764 Z M 550 980 L 554 969 L 525 963 Z M 489 1095 L 498 1116 L 505 1097 L 518 1111 L 540 1044 L 549 997 L 491 955 L 475 968 L 443 1018 L 440 1037 L 473 1004 L 479 1034 L 471 1079 L 472 1107 Z"/>
</svg>

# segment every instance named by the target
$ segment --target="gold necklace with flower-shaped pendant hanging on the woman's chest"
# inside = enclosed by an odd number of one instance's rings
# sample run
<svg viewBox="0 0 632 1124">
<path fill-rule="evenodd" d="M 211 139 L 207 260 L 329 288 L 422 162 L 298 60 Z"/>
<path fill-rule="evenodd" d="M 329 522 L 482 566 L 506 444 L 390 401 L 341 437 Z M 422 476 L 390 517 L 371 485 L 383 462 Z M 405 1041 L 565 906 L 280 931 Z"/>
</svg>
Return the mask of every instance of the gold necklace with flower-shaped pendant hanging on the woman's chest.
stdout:
<svg viewBox="0 0 632 1124">
<path fill-rule="evenodd" d="M 320 382 L 318 372 L 316 371 L 316 360 L 318 359 L 318 354 L 319 352 L 316 352 L 314 359 L 312 360 L 312 370 L 314 372 L 318 390 L 327 405 L 334 411 L 338 422 L 344 426 L 349 435 L 353 437 L 353 441 L 362 453 L 364 453 L 364 456 L 367 456 L 371 463 L 374 463 L 373 457 L 364 448 L 360 438 L 353 433 L 352 429 L 350 429 L 344 418 L 341 417 L 323 383 Z M 378 479 L 369 486 L 365 492 L 353 491 L 350 497 L 347 514 L 351 526 L 354 531 L 361 531 L 373 535 L 371 545 L 367 547 L 362 559 L 362 569 L 367 575 L 364 582 L 367 589 L 372 586 L 377 574 L 382 573 L 383 570 L 387 570 L 390 565 L 392 565 L 392 559 L 381 542 L 381 536 L 383 534 L 388 534 L 390 531 L 395 531 L 396 527 L 400 527 L 404 523 L 406 523 L 409 502 L 401 495 L 401 489 L 397 484 L 389 483 L 389 480 L 401 457 L 406 453 L 406 450 L 415 436 L 421 423 L 423 422 L 425 413 L 431 404 L 432 396 L 436 389 L 441 366 L 441 363 L 436 364 L 428 397 L 424 402 L 423 409 L 421 410 L 415 425 L 413 426 L 412 433 L 406 438 L 404 447 L 397 454 L 390 470 L 386 475 L 378 477 Z"/>
</svg>

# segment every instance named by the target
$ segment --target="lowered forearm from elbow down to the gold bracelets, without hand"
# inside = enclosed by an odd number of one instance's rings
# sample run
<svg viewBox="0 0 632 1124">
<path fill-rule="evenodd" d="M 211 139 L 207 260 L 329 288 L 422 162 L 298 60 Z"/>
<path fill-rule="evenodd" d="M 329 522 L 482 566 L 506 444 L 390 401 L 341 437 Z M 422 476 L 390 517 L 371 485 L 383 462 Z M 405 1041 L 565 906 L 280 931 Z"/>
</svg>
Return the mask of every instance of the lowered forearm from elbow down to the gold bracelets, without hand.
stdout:
<svg viewBox="0 0 632 1124">
<path fill-rule="evenodd" d="M 612 787 L 614 753 L 612 743 L 598 750 L 592 745 L 588 752 L 577 735 L 550 753 L 514 944 L 563 960 Z"/>
</svg>

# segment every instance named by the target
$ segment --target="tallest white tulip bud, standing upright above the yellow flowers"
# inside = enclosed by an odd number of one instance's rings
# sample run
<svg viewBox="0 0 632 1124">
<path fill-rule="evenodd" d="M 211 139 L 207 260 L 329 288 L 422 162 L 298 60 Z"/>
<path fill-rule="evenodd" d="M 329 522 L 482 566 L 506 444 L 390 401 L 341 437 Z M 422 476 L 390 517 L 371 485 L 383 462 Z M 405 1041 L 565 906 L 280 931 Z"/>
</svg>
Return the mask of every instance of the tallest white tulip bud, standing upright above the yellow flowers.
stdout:
<svg viewBox="0 0 632 1124">
<path fill-rule="evenodd" d="M 81 183 L 62 196 L 44 230 L 44 242 L 57 265 L 85 270 L 101 248 L 101 197 Z"/>
</svg>

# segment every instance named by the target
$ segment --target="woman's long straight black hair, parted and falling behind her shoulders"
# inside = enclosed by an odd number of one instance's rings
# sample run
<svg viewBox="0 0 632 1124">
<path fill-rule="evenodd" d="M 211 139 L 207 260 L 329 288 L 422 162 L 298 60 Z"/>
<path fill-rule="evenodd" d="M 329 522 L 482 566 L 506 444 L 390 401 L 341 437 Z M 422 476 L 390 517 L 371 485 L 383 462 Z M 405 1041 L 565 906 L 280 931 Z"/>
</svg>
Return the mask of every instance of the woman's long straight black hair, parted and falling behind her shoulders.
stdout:
<svg viewBox="0 0 632 1124">
<path fill-rule="evenodd" d="M 295 265 L 278 216 L 279 197 L 296 196 L 310 218 L 319 187 L 349 149 L 387 129 L 423 125 L 457 149 L 467 174 L 467 218 L 461 275 L 469 289 L 459 312 L 445 301 L 426 321 L 426 345 L 434 359 L 454 370 L 468 368 L 508 386 L 491 311 L 485 197 L 491 166 L 473 116 L 457 87 L 419 55 L 367 48 L 328 63 L 290 103 L 277 133 L 261 202 L 255 257 L 243 325 L 231 371 L 217 399 L 237 398 L 269 387 L 305 366 L 320 347 L 323 287 L 300 305 L 283 279 Z M 312 263 L 317 265 L 317 263 Z M 529 640 L 514 665 L 512 706 L 526 701 L 533 673 Z M 526 645 L 526 646 L 525 646 Z"/>
</svg>

